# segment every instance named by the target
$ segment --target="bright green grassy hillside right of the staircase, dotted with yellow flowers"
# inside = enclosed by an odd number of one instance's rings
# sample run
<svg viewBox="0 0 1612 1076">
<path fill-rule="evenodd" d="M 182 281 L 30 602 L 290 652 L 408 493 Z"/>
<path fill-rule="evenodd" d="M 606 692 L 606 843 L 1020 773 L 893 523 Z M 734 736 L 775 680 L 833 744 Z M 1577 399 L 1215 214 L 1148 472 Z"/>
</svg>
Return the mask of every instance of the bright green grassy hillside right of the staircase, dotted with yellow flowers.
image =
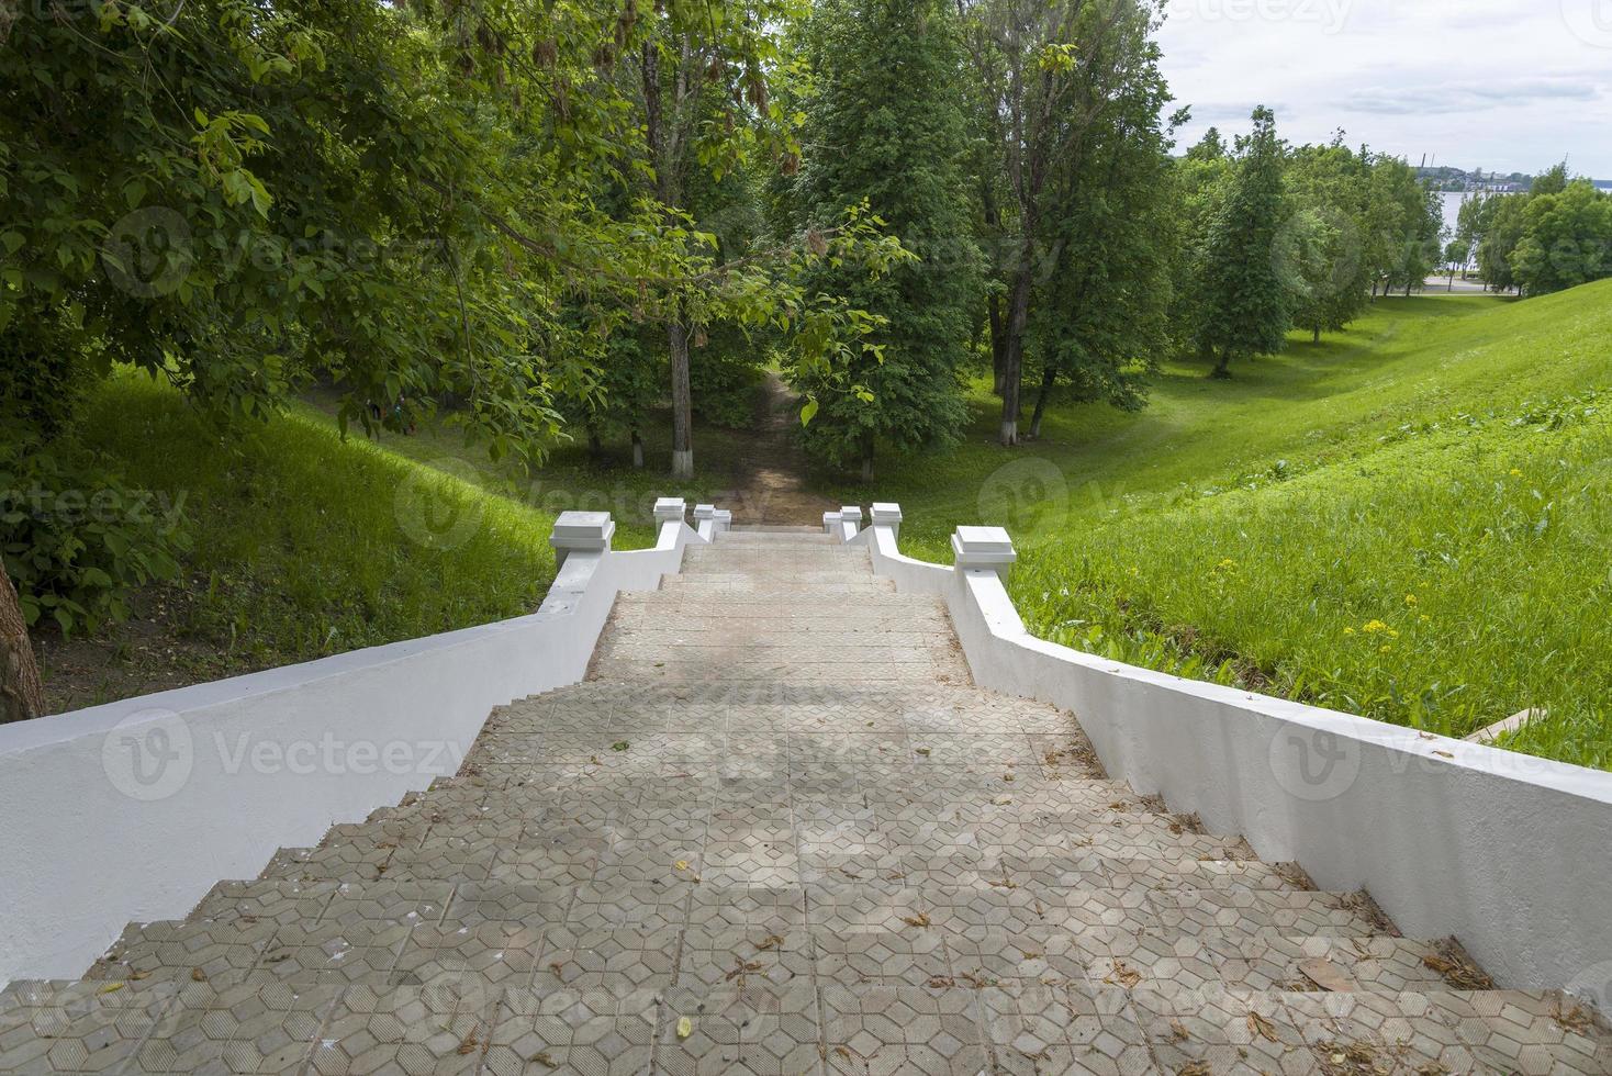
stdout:
<svg viewBox="0 0 1612 1076">
<path fill-rule="evenodd" d="M 1449 735 L 1544 707 L 1509 746 L 1612 767 L 1612 282 L 1381 301 L 1235 374 L 1014 453 L 980 391 L 877 496 L 932 559 L 1006 524 L 1045 638 Z"/>
</svg>

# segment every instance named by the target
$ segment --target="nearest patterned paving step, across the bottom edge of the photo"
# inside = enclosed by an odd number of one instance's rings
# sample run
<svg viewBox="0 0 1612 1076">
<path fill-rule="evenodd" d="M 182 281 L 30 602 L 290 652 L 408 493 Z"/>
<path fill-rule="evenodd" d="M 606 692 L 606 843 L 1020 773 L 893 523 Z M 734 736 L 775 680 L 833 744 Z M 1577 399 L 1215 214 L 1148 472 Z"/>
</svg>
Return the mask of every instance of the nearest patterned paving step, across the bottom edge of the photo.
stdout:
<svg viewBox="0 0 1612 1076">
<path fill-rule="evenodd" d="M 667 991 L 105 987 L 23 983 L 0 995 L 0 1070 L 1612 1071 L 1604 1024 L 1557 992 L 814 986 L 725 971 L 714 984 Z"/>
</svg>

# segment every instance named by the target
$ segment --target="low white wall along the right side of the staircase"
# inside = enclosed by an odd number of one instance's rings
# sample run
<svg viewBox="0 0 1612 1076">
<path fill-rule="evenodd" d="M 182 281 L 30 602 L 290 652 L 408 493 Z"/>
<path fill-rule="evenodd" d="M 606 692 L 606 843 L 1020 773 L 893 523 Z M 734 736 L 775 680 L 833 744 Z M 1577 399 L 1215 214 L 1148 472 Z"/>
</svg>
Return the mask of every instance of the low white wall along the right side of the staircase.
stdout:
<svg viewBox="0 0 1612 1076">
<path fill-rule="evenodd" d="M 898 590 L 946 601 L 975 683 L 1072 710 L 1112 778 L 1323 889 L 1369 889 L 1407 936 L 1454 934 L 1501 986 L 1612 1012 L 1612 773 L 1054 646 L 996 572 L 850 533 Z"/>
</svg>

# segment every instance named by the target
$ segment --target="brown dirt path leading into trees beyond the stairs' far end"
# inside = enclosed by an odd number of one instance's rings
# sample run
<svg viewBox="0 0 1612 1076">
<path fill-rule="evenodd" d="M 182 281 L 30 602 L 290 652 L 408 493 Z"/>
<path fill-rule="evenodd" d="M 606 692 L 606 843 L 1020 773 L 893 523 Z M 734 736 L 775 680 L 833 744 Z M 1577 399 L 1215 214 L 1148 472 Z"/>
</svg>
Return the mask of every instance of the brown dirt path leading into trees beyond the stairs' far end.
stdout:
<svg viewBox="0 0 1612 1076">
<path fill-rule="evenodd" d="M 801 485 L 806 454 L 795 441 L 798 425 L 800 398 L 777 372 L 767 370 L 751 451 L 733 461 L 733 488 L 722 504 L 733 511 L 735 524 L 816 527 L 824 512 L 838 507 Z"/>
</svg>

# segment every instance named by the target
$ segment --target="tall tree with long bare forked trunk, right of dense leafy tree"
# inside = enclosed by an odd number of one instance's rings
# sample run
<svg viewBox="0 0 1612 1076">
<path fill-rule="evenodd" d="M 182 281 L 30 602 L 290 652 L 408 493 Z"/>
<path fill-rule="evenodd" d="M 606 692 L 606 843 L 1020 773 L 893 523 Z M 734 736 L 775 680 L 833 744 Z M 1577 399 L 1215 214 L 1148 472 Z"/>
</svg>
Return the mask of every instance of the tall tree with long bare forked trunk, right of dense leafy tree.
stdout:
<svg viewBox="0 0 1612 1076">
<path fill-rule="evenodd" d="M 1019 441 L 1025 337 L 1046 248 L 1046 198 L 1054 177 L 1077 168 L 1086 132 L 1111 106 L 1114 87 L 1149 56 L 1153 0 L 962 0 L 964 40 L 978 79 L 978 127 L 990 145 L 988 192 L 1008 192 L 985 213 L 998 251 L 1003 304 L 993 353 L 1003 398 L 1001 443 Z"/>
</svg>

